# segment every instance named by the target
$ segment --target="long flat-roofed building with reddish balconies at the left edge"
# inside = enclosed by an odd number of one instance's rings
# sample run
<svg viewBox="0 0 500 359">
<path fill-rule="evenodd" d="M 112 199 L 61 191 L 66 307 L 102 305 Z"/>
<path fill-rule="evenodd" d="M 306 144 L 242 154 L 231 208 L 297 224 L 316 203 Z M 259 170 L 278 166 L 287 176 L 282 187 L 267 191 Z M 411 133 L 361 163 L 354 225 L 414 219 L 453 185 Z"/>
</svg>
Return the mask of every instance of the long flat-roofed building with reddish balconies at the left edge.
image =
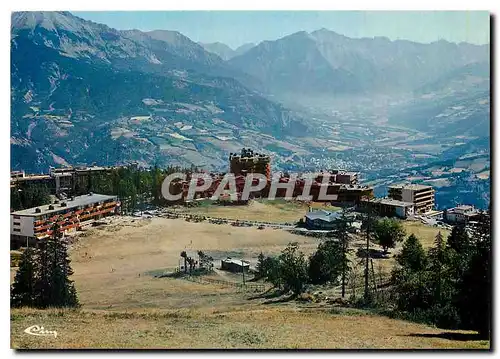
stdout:
<svg viewBox="0 0 500 359">
<path fill-rule="evenodd" d="M 14 241 L 46 238 L 52 234 L 56 222 L 63 233 L 69 233 L 103 216 L 117 213 L 119 206 L 116 196 L 90 193 L 12 212 L 11 238 Z"/>
</svg>

